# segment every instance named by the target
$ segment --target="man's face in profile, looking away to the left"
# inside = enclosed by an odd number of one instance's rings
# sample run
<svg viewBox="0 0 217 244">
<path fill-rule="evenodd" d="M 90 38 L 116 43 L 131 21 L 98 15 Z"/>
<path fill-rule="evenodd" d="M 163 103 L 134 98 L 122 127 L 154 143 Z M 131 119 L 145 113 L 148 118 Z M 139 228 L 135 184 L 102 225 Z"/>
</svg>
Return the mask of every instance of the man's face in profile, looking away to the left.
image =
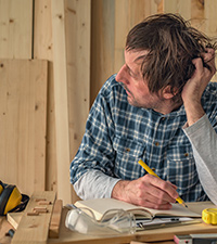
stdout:
<svg viewBox="0 0 217 244">
<path fill-rule="evenodd" d="M 162 112 L 163 99 L 150 92 L 142 77 L 141 57 L 146 54 L 148 51 L 125 51 L 125 64 L 117 73 L 116 80 L 123 84 L 129 104 Z"/>
</svg>

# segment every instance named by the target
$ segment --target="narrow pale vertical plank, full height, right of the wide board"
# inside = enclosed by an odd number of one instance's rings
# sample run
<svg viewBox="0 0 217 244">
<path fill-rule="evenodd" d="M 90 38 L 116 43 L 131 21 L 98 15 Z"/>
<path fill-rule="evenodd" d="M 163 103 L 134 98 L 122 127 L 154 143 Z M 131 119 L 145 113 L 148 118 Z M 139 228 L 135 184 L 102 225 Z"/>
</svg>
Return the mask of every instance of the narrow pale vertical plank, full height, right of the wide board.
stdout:
<svg viewBox="0 0 217 244">
<path fill-rule="evenodd" d="M 66 72 L 65 2 L 52 0 L 54 108 L 58 163 L 58 197 L 72 202 L 69 183 L 69 129 Z"/>
</svg>

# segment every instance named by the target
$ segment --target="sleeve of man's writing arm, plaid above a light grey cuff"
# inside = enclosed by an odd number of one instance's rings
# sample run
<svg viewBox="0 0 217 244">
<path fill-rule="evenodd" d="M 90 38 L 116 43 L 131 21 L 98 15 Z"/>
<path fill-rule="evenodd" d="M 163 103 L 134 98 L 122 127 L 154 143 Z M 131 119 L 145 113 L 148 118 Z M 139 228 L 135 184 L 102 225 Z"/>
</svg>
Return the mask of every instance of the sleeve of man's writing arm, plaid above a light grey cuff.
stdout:
<svg viewBox="0 0 217 244">
<path fill-rule="evenodd" d="M 114 78 L 113 78 L 114 79 Z M 110 81 L 110 80 L 108 80 Z M 105 84 L 106 85 L 106 84 Z M 111 197 L 116 152 L 113 149 L 113 90 L 101 89 L 86 125 L 78 152 L 71 164 L 71 182 L 80 198 Z"/>
</svg>

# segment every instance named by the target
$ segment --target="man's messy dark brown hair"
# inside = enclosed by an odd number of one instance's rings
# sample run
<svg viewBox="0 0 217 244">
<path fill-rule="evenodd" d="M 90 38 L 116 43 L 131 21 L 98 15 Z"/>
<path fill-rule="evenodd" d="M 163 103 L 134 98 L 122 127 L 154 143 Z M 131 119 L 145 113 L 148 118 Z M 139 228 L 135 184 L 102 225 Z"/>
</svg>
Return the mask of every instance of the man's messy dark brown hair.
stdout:
<svg viewBox="0 0 217 244">
<path fill-rule="evenodd" d="M 195 69 L 192 60 L 206 48 L 216 50 L 216 42 L 171 13 L 149 16 L 129 31 L 126 41 L 127 51 L 149 51 L 141 72 L 150 92 L 158 93 L 169 86 L 175 101 L 180 101 L 182 88 Z"/>
</svg>

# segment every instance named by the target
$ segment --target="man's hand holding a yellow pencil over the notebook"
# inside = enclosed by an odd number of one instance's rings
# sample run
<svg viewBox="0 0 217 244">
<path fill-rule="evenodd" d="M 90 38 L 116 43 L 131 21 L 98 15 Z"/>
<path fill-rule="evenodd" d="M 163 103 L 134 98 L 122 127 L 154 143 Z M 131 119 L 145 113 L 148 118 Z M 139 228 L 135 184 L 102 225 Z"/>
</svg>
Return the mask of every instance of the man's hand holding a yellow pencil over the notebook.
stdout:
<svg viewBox="0 0 217 244">
<path fill-rule="evenodd" d="M 112 197 L 143 207 L 170 209 L 171 203 L 178 200 L 180 204 L 184 204 L 176 190 L 177 187 L 171 182 L 164 181 L 155 174 L 149 172 L 137 180 L 118 181 L 113 189 Z"/>
</svg>

